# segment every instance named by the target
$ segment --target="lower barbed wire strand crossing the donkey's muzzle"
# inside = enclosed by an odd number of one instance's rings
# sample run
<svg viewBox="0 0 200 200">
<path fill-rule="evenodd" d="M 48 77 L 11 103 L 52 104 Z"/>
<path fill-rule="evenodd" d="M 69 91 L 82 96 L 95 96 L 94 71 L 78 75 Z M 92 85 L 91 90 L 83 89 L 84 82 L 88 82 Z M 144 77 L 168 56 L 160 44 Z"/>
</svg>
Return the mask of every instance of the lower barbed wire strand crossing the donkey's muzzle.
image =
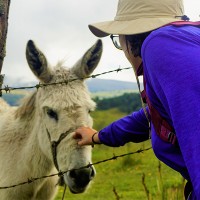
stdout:
<svg viewBox="0 0 200 200">
<path fill-rule="evenodd" d="M 105 162 L 108 162 L 108 161 L 111 161 L 111 160 L 117 160 L 118 158 L 122 158 L 122 157 L 125 157 L 125 156 L 129 156 L 129 155 L 134 155 L 134 154 L 139 154 L 139 153 L 143 153 L 145 151 L 148 151 L 152 149 L 152 147 L 148 147 L 146 149 L 139 149 L 135 152 L 129 152 L 129 153 L 126 153 L 126 154 L 121 154 L 121 155 L 114 155 L 113 157 L 111 158 L 107 158 L 105 160 L 101 160 L 101 161 L 97 161 L 95 163 L 89 163 L 88 165 L 85 165 L 83 167 L 80 167 L 80 168 L 76 168 L 76 169 L 71 169 L 71 170 L 66 170 L 66 171 L 60 171 L 58 173 L 54 173 L 54 174 L 50 174 L 50 175 L 46 175 L 46 176 L 41 176 L 41 177 L 35 177 L 35 178 L 28 178 L 27 181 L 24 181 L 24 182 L 20 182 L 20 183 L 17 183 L 17 184 L 13 184 L 13 185 L 9 185 L 9 186 L 0 186 L 0 190 L 2 189 L 9 189 L 9 188 L 15 188 L 15 187 L 18 187 L 18 186 L 22 186 L 22 185 L 25 185 L 25 184 L 31 184 L 37 180 L 41 180 L 41 179 L 45 179 L 45 178 L 51 178 L 51 177 L 54 177 L 54 176 L 63 176 L 64 174 L 66 174 L 67 172 L 70 172 L 70 171 L 74 171 L 74 170 L 81 170 L 81 169 L 85 169 L 85 168 L 90 168 L 91 166 L 94 166 L 94 165 L 98 165 L 98 164 L 101 164 L 101 163 L 105 163 Z"/>
</svg>

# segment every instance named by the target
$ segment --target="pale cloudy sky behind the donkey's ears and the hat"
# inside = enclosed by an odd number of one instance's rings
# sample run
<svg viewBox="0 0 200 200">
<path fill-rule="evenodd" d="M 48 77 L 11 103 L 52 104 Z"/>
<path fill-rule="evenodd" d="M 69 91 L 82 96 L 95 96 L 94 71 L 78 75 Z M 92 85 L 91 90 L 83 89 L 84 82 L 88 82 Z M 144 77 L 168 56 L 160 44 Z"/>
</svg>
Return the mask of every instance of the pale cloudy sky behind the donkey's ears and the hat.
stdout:
<svg viewBox="0 0 200 200">
<path fill-rule="evenodd" d="M 11 1 L 7 37 L 7 55 L 2 73 L 14 82 L 35 81 L 26 58 L 25 47 L 29 39 L 35 41 L 49 63 L 65 60 L 72 66 L 93 45 L 96 37 L 88 24 L 111 20 L 115 16 L 118 0 L 15 0 Z M 200 20 L 200 1 L 184 0 L 185 13 L 192 20 Z M 124 55 L 113 47 L 110 38 L 103 39 L 104 52 L 94 74 L 121 67 L 130 67 Z M 132 70 L 103 75 L 123 81 L 135 81 Z"/>
</svg>

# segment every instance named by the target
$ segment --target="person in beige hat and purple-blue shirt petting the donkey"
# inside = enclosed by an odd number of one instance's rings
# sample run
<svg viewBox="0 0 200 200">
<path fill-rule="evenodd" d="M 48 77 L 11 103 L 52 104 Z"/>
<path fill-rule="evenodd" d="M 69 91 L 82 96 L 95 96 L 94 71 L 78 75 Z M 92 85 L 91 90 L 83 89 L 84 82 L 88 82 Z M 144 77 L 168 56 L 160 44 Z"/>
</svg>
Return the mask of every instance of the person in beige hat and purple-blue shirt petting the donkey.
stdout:
<svg viewBox="0 0 200 200">
<path fill-rule="evenodd" d="M 188 20 L 181 0 L 119 0 L 113 21 L 89 25 L 97 37 L 111 35 L 136 76 L 143 72 L 148 106 L 99 132 L 80 127 L 74 138 L 79 145 L 121 146 L 150 136 L 158 159 L 188 180 L 186 199 L 196 200 L 200 199 L 200 23 Z"/>
</svg>

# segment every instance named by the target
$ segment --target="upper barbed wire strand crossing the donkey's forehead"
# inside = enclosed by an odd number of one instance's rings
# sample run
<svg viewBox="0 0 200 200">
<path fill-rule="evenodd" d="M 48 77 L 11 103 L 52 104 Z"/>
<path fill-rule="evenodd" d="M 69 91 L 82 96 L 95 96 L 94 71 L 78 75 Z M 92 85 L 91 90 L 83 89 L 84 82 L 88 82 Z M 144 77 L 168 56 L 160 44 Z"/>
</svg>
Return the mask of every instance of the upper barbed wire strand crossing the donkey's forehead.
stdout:
<svg viewBox="0 0 200 200">
<path fill-rule="evenodd" d="M 68 84 L 69 82 L 73 82 L 73 81 L 76 81 L 76 80 L 83 80 L 83 79 L 88 79 L 88 78 L 96 78 L 98 76 L 101 76 L 101 75 L 105 75 L 105 74 L 109 74 L 109 73 L 113 73 L 113 72 L 120 72 L 120 71 L 123 71 L 123 70 L 127 70 L 127 69 L 132 69 L 132 67 L 124 67 L 124 68 L 117 68 L 117 69 L 114 69 L 114 70 L 110 70 L 110 71 L 107 71 L 107 72 L 102 72 L 102 73 L 99 73 L 99 74 L 95 74 L 95 75 L 91 75 L 91 76 L 88 76 L 88 77 L 85 77 L 85 78 L 75 78 L 75 79 L 70 79 L 70 80 L 66 80 L 66 81 L 61 81 L 61 82 L 55 82 L 55 83 L 45 83 L 45 84 L 41 84 L 41 83 L 38 83 L 36 85 L 33 85 L 33 86 L 22 86 L 22 87 L 10 87 L 8 85 L 0 88 L 0 93 L 2 91 L 5 91 L 6 93 L 10 93 L 12 90 L 24 90 L 24 89 L 39 89 L 40 87 L 47 87 L 47 86 L 50 86 L 50 85 L 59 85 L 59 84 Z"/>
</svg>

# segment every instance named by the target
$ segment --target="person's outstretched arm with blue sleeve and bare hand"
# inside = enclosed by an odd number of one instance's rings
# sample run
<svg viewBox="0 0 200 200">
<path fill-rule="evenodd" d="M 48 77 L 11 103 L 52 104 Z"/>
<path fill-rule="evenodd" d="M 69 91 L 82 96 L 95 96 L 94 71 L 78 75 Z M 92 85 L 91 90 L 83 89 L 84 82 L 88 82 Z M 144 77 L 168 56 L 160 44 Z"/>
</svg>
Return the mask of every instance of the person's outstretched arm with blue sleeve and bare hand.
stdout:
<svg viewBox="0 0 200 200">
<path fill-rule="evenodd" d="M 149 138 L 148 120 L 143 109 L 125 116 L 101 131 L 89 127 L 80 127 L 76 130 L 74 138 L 79 145 L 92 145 L 103 143 L 107 146 L 123 146 L 128 142 L 142 142 Z M 93 139 L 93 141 L 92 141 Z"/>
</svg>

